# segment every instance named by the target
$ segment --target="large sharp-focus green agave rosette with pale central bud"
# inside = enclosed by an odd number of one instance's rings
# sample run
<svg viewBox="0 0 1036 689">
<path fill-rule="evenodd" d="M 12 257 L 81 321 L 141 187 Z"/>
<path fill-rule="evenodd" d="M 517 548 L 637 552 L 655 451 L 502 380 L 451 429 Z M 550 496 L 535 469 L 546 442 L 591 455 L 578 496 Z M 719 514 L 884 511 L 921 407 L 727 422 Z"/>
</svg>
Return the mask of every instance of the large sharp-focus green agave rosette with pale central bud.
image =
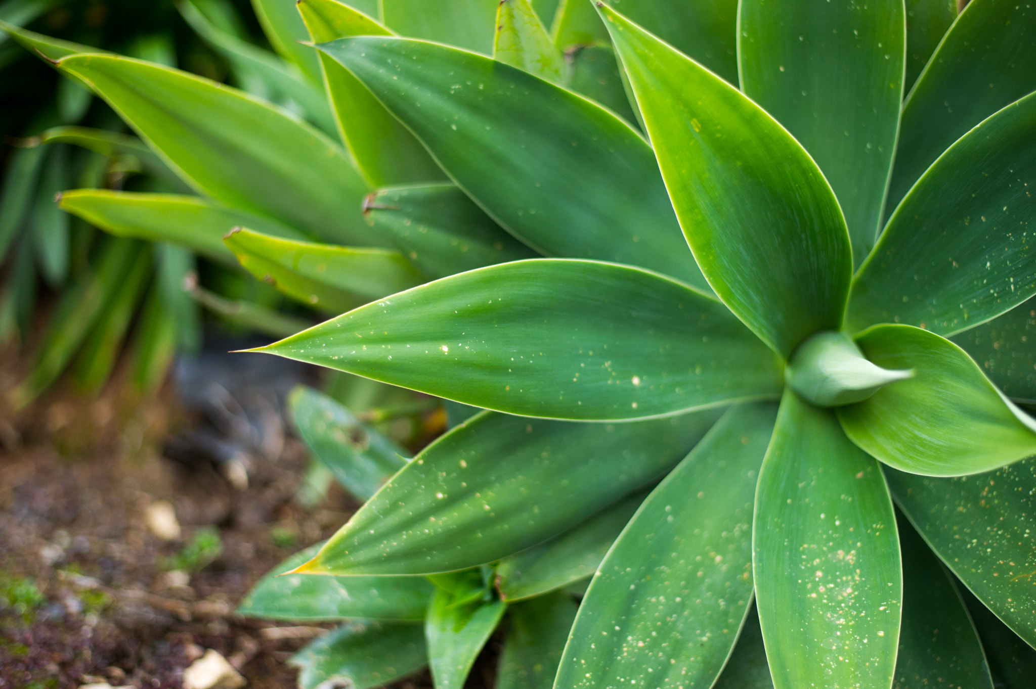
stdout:
<svg viewBox="0 0 1036 689">
<path fill-rule="evenodd" d="M 563 562 L 552 544 L 577 523 L 588 542 L 614 505 L 625 527 L 555 687 L 710 687 L 745 625 L 738 657 L 757 665 L 761 638 L 779 689 L 991 686 L 974 630 L 943 647 L 919 631 L 969 624 L 952 580 L 923 592 L 939 606 L 904 603 L 922 594 L 904 590 L 897 528 L 912 527 L 894 498 L 923 539 L 910 547 L 930 547 L 1036 643 L 1036 423 L 997 386 L 1029 356 L 1015 317 L 1036 293 L 1036 10 L 974 0 L 903 110 L 920 50 L 903 4 L 799 4 L 740 3 L 739 89 L 598 3 L 650 148 L 553 83 L 546 59 L 515 67 L 396 36 L 318 46 L 551 258 L 442 277 L 262 348 L 490 410 L 419 454 L 298 572 L 496 567 L 496 595 L 520 599 L 533 589 L 511 559 Z M 963 53 L 967 83 L 996 88 L 940 110 L 957 80 L 941 65 Z M 928 111 L 940 117 L 908 117 Z M 942 148 L 908 163 L 897 140 Z M 657 168 L 640 167 L 643 151 Z M 893 167 L 911 166 L 887 209 Z M 1011 394 L 1031 400 L 1020 378 Z M 661 459 L 666 424 L 728 406 L 689 454 Z M 650 493 L 627 517 L 637 489 Z M 946 578 L 934 559 L 909 567 L 908 583 L 917 567 Z M 482 624 L 478 610 L 442 622 L 472 600 L 460 590 L 442 589 L 459 598 L 430 607 L 436 625 Z"/>
</svg>

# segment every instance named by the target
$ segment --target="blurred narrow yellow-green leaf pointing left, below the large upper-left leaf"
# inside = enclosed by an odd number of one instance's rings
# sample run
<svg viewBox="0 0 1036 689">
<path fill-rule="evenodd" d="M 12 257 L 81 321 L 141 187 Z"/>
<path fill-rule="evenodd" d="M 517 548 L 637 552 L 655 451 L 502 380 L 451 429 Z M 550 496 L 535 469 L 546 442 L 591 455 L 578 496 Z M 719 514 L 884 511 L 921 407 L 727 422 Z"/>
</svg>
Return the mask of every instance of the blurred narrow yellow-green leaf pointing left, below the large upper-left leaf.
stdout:
<svg viewBox="0 0 1036 689">
<path fill-rule="evenodd" d="M 248 226 L 279 237 L 303 237 L 276 220 L 183 194 L 75 189 L 62 193 L 59 205 L 117 237 L 168 241 L 235 265 L 237 259 L 223 237 L 236 227 Z"/>
</svg>

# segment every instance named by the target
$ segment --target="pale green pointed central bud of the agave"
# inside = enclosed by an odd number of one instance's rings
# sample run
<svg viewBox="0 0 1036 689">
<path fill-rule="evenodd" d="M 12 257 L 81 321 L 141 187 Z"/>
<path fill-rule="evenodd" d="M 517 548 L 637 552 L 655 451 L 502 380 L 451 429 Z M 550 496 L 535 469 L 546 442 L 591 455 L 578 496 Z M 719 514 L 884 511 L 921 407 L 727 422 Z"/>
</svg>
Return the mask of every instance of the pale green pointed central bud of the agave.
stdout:
<svg viewBox="0 0 1036 689">
<path fill-rule="evenodd" d="M 810 335 L 796 348 L 784 381 L 818 407 L 840 407 L 862 401 L 882 386 L 913 375 L 913 370 L 875 366 L 847 335 L 828 330 Z"/>
</svg>

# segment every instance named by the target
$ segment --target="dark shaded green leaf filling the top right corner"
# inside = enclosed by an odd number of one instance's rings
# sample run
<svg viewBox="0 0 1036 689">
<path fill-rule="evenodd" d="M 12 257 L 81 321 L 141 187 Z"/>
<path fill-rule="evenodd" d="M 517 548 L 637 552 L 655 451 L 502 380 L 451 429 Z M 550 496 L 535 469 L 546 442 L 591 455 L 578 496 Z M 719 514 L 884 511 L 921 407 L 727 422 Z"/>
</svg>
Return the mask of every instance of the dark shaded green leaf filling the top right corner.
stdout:
<svg viewBox="0 0 1036 689">
<path fill-rule="evenodd" d="M 1034 90 L 1036 6 L 968 3 L 903 103 L 886 213 L 953 142 Z"/>
</svg>

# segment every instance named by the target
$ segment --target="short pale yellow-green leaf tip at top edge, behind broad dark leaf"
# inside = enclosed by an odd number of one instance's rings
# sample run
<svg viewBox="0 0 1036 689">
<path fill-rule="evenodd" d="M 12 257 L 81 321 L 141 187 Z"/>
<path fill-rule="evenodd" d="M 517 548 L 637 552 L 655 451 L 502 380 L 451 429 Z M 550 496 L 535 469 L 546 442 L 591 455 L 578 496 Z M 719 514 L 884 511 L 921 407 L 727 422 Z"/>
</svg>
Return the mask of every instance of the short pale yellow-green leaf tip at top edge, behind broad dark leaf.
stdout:
<svg viewBox="0 0 1036 689">
<path fill-rule="evenodd" d="M 493 59 L 555 84 L 565 81 L 565 57 L 528 0 L 503 0 L 496 10 Z"/>
</svg>

